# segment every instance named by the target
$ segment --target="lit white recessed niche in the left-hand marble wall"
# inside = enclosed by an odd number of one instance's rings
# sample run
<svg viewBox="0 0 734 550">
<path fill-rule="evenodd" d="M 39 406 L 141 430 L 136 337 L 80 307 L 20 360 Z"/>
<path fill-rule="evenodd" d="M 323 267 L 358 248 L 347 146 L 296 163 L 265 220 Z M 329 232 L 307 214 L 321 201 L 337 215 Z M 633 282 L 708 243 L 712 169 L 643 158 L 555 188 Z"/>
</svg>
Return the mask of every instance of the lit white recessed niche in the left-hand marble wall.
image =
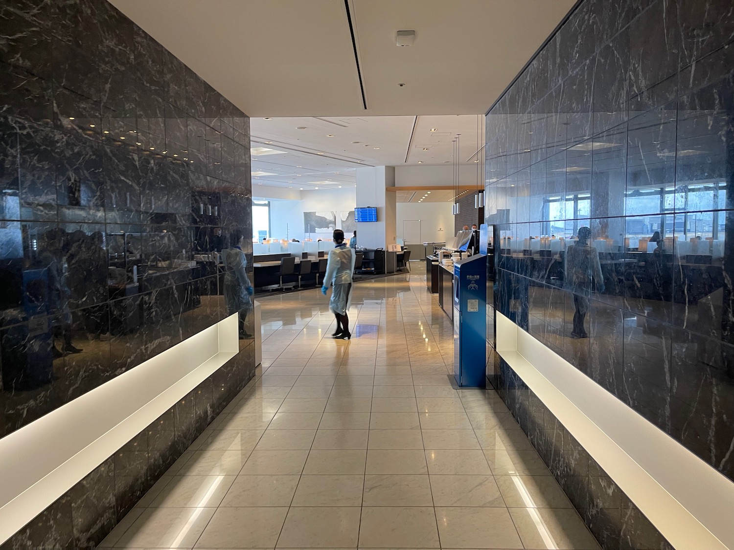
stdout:
<svg viewBox="0 0 734 550">
<path fill-rule="evenodd" d="M 238 351 L 235 314 L 0 439 L 0 544 Z"/>
</svg>

